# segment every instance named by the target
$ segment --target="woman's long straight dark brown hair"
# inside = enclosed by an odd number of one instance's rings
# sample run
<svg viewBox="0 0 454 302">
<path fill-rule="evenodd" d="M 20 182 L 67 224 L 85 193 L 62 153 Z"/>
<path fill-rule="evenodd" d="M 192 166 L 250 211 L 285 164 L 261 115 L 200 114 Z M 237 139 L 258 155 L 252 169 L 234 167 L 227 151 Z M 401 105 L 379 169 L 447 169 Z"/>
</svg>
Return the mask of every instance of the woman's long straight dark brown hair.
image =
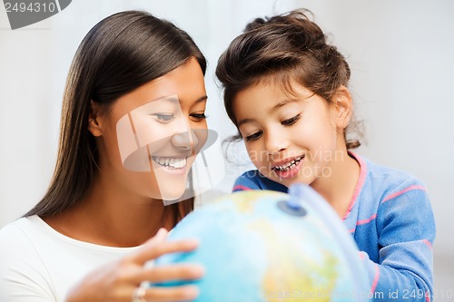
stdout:
<svg viewBox="0 0 454 302">
<path fill-rule="evenodd" d="M 107 112 L 123 94 L 195 58 L 206 60 L 192 38 L 174 24 L 145 12 L 111 15 L 94 25 L 74 56 L 64 91 L 58 158 L 44 198 L 25 216 L 50 217 L 73 207 L 98 170 L 94 136 L 88 131 L 91 102 Z M 165 207 L 176 220 L 193 199 Z"/>
</svg>

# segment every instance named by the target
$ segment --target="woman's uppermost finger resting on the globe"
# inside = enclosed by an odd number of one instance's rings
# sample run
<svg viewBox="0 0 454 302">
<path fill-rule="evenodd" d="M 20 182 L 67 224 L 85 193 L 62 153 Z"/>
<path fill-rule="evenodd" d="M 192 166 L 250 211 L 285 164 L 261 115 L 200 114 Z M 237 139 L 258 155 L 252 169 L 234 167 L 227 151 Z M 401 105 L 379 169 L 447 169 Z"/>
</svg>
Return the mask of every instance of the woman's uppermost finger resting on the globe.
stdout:
<svg viewBox="0 0 454 302">
<path fill-rule="evenodd" d="M 134 262 L 143 265 L 145 262 L 163 256 L 164 254 L 192 251 L 198 245 L 199 241 L 196 239 L 162 241 L 158 243 L 148 241 L 143 248 L 133 254 L 132 259 Z"/>
</svg>

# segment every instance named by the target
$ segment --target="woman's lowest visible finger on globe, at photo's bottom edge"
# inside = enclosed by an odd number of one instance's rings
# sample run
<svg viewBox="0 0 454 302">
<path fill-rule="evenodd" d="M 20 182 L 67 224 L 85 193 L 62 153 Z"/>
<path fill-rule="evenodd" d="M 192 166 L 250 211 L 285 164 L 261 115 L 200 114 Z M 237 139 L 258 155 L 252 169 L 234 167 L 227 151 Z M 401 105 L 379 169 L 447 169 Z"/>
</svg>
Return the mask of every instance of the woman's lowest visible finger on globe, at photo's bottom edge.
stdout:
<svg viewBox="0 0 454 302">
<path fill-rule="evenodd" d="M 199 288 L 183 287 L 150 287 L 145 291 L 145 300 L 149 302 L 189 301 L 199 296 Z"/>
</svg>

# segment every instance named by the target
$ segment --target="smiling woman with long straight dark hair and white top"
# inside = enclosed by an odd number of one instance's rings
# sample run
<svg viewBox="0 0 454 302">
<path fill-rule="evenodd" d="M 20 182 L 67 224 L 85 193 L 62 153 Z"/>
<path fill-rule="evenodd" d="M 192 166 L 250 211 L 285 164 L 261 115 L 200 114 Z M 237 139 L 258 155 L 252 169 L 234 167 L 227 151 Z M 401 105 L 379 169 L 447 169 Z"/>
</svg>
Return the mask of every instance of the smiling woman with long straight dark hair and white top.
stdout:
<svg viewBox="0 0 454 302">
<path fill-rule="evenodd" d="M 147 13 L 109 16 L 85 36 L 66 83 L 53 180 L 34 209 L 0 230 L 0 300 L 197 296 L 191 286 L 140 284 L 202 276 L 196 265 L 144 264 L 197 246 L 165 241 L 193 200 L 163 199 L 183 195 L 204 140 L 205 68 L 188 34 Z"/>
</svg>

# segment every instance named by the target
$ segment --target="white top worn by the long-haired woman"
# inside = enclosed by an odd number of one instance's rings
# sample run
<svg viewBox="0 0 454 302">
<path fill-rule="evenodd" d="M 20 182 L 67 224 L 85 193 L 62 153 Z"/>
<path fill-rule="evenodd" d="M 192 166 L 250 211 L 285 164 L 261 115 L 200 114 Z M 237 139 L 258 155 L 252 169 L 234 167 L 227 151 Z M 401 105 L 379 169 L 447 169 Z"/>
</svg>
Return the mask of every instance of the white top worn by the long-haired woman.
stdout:
<svg viewBox="0 0 454 302">
<path fill-rule="evenodd" d="M 0 301 L 63 302 L 85 275 L 135 248 L 68 238 L 37 216 L 0 229 Z"/>
</svg>

